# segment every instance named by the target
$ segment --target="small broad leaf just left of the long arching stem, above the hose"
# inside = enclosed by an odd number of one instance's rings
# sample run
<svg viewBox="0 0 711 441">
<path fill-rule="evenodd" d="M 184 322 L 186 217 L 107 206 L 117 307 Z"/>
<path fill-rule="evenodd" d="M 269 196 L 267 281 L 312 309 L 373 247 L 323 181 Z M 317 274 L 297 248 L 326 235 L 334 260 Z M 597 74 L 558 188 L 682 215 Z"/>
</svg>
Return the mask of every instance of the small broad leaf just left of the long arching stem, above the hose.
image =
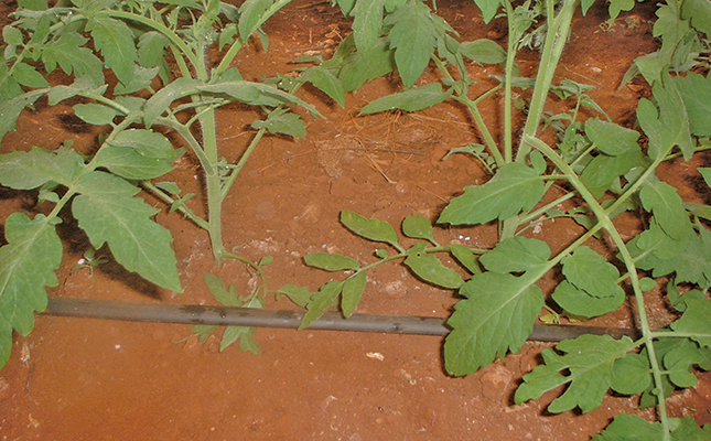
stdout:
<svg viewBox="0 0 711 441">
<path fill-rule="evenodd" d="M 590 295 L 624 298 L 624 291 L 617 284 L 620 271 L 592 249 L 578 247 L 572 256 L 562 260 L 562 272 L 568 281 Z"/>
</svg>

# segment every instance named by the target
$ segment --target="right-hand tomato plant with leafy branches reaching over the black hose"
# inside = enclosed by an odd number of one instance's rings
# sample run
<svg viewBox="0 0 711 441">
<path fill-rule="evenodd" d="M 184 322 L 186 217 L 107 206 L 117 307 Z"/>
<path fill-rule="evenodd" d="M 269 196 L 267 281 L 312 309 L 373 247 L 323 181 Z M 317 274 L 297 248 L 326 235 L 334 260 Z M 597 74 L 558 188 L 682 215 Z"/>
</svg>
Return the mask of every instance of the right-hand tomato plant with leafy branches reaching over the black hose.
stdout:
<svg viewBox="0 0 711 441">
<path fill-rule="evenodd" d="M 484 144 L 472 143 L 455 152 L 474 154 L 493 176 L 485 184 L 466 186 L 437 223 L 474 227 L 497 222 L 498 243 L 493 249 L 440 245 L 430 222 L 411 216 L 403 220 L 402 234 L 420 241 L 406 248 L 390 224 L 344 211 L 341 222 L 346 228 L 395 252 L 378 249 L 377 260 L 367 265 L 341 255 L 308 255 L 306 265 L 349 271 L 348 277 L 330 281 L 316 292 L 293 284 L 279 291 L 308 309 L 302 323 L 306 327 L 338 302 L 343 314 L 351 315 L 364 293 L 367 270 L 402 260 L 420 279 L 457 290 L 461 300 L 448 321 L 452 331 L 444 343 L 445 368 L 456 376 L 473 374 L 496 357 L 520 349 L 543 308 L 553 318 L 601 316 L 618 309 L 628 292 L 636 306 L 639 340 L 583 335 L 561 342 L 545 351 L 543 364 L 524 376 L 516 402 L 565 385 L 548 411 L 588 412 L 602 405 L 612 389 L 640 395 L 640 407 L 656 407 L 658 421 L 617 416 L 595 439 L 640 434 L 650 440 L 707 439 L 711 426 L 699 428 L 690 418 L 670 418 L 665 400 L 675 389 L 698 381 L 694 366 L 711 369 L 711 232 L 704 224 L 711 220 L 711 207 L 683 202 L 676 187 L 657 178 L 656 170 L 678 157 L 688 161 L 711 146 L 711 77 L 688 72 L 694 66 L 708 72 L 699 54 L 709 51 L 711 7 L 705 0 L 668 0 L 660 6 L 654 35 L 661 40 L 661 49 L 637 58 L 627 74 L 632 78 L 640 73 L 653 90 L 653 98 L 643 98 L 637 106 L 643 138 L 610 121 L 586 94 L 590 86 L 571 80 L 553 84 L 573 13 L 581 8 L 585 14 L 593 2 L 476 0 L 485 22 L 497 13 L 508 20 L 508 43 L 503 49 L 488 40 L 456 41 L 454 30 L 419 0 L 338 1 L 355 18 L 354 33 L 321 66 L 332 69 L 346 90 L 397 68 L 405 90 L 368 104 L 360 114 L 417 111 L 446 99 L 466 106 Z M 633 6 L 612 1 L 612 19 Z M 537 75 L 520 78 L 517 51 L 535 43 L 540 43 L 541 54 Z M 472 98 L 466 60 L 500 64 L 500 84 Z M 431 62 L 441 73 L 441 83 L 414 86 Z M 515 88 L 531 89 L 523 128 L 513 123 Z M 499 133 L 486 127 L 478 110 L 482 100 L 497 94 L 504 95 L 500 143 L 495 138 Z M 551 94 L 574 99 L 574 107 L 560 115 L 547 112 Z M 581 107 L 605 118 L 581 119 Z M 558 131 L 559 142 L 550 144 L 539 137 L 541 122 Z M 711 184 L 711 169 L 699 173 Z M 553 187 L 557 183 L 561 185 Z M 563 202 L 575 206 L 563 212 L 558 208 Z M 648 226 L 629 240 L 613 223 L 625 211 L 639 214 Z M 572 217 L 586 229 L 562 251 L 552 255 L 546 241 L 526 236 L 530 226 L 560 216 Z M 589 246 L 603 234 L 614 250 L 611 258 Z M 434 256 L 438 252 L 450 254 L 470 276 L 464 279 L 445 267 Z M 547 299 L 538 281 L 551 270 L 560 271 L 563 280 Z M 678 319 L 667 329 L 655 330 L 644 292 L 660 283 L 666 283 Z"/>
</svg>

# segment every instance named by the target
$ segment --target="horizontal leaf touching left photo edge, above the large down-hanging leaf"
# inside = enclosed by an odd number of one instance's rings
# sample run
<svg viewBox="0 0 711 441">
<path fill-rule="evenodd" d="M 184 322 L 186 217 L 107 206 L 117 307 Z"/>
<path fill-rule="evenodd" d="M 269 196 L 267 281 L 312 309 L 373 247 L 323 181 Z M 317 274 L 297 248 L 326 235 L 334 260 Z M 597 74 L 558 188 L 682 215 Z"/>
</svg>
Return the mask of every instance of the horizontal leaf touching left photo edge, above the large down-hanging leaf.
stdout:
<svg viewBox="0 0 711 441">
<path fill-rule="evenodd" d="M 33 147 L 29 152 L 0 155 L 0 184 L 17 190 L 32 190 L 47 182 L 68 185 L 84 160 L 74 150 L 49 151 Z"/>
</svg>

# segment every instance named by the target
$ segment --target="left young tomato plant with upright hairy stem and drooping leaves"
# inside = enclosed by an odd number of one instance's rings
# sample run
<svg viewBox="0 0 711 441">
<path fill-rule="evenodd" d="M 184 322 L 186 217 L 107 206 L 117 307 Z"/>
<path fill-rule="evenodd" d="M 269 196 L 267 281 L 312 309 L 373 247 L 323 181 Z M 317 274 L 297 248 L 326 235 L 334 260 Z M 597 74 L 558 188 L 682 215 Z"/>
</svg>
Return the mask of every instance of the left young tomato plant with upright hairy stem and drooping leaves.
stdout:
<svg viewBox="0 0 711 441">
<path fill-rule="evenodd" d="M 258 263 L 226 250 L 222 204 L 266 132 L 304 136 L 304 121 L 290 111 L 300 106 L 317 115 L 293 95 L 304 82 L 343 103 L 343 92 L 317 67 L 289 82 L 254 83 L 231 66 L 252 34 L 268 46 L 261 25 L 289 1 L 248 0 L 239 8 L 218 0 L 60 0 L 53 7 L 19 1 L 17 20 L 2 30 L 0 139 L 42 97 L 50 106 L 80 101 L 73 106 L 75 115 L 105 131 L 89 157 L 68 147 L 0 155 L 1 185 L 39 190 L 39 201 L 53 204 L 47 215 L 15 213 L 6 222 L 0 365 L 10 354 L 12 330 L 31 331 L 33 312 L 46 306 L 45 287 L 56 284 L 63 247 L 55 226 L 65 206 L 96 249 L 108 244 L 126 269 L 166 289 L 182 290 L 172 237 L 152 219 L 158 209 L 137 197 L 141 187 L 205 228 L 216 262 L 236 258 L 260 271 Z M 52 75 L 57 67 L 72 83 L 57 84 L 63 78 Z M 116 82 L 107 80 L 106 69 Z M 265 118 L 251 125 L 254 138 L 241 158 L 228 164 L 219 155 L 215 111 L 236 101 L 258 107 Z M 192 195 L 181 195 L 175 183 L 153 182 L 185 153 L 176 146 L 186 146 L 200 161 L 206 218 L 185 204 Z"/>
</svg>

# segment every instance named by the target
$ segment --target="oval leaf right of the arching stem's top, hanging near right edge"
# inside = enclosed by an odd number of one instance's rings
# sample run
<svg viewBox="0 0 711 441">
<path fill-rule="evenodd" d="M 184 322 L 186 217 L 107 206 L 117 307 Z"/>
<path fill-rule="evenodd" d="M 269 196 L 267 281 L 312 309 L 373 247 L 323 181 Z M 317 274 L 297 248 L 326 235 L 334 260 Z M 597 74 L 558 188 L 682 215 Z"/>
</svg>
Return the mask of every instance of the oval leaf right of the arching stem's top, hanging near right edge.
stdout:
<svg viewBox="0 0 711 441">
<path fill-rule="evenodd" d="M 661 229 L 671 238 L 680 240 L 692 234 L 689 214 L 683 208 L 677 189 L 666 182 L 646 185 L 639 191 L 645 209 L 651 212 Z"/>
</svg>

